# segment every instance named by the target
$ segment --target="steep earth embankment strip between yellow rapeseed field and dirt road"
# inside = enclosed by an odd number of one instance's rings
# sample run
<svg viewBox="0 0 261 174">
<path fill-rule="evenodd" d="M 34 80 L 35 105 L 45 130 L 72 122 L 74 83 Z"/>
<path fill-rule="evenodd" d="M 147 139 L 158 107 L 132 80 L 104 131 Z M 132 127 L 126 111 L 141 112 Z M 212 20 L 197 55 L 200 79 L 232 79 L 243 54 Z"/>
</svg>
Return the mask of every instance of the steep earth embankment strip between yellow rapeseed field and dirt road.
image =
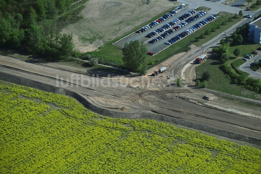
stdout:
<svg viewBox="0 0 261 174">
<path fill-rule="evenodd" d="M 261 139 L 250 137 L 247 135 L 238 134 L 238 133 L 227 131 L 227 130 L 217 129 L 215 127 L 194 123 L 192 121 L 187 121 L 187 120 L 170 117 L 168 115 L 149 113 L 149 112 L 121 112 L 121 111 L 114 111 L 114 110 L 110 110 L 110 109 L 100 108 L 100 107 L 96 106 L 94 103 L 92 103 L 90 100 L 88 100 L 88 98 L 86 98 L 85 96 L 83 96 L 77 92 L 73 92 L 73 91 L 70 91 L 70 90 L 67 90 L 64 88 L 52 86 L 52 85 L 45 84 L 42 82 L 34 81 L 34 80 L 27 79 L 24 77 L 14 76 L 14 75 L 11 75 L 8 73 L 0 72 L 0 80 L 40 89 L 40 90 L 47 91 L 47 92 L 53 92 L 53 93 L 57 93 L 57 94 L 71 96 L 71 97 L 75 98 L 76 100 L 78 100 L 87 109 L 90 109 L 91 111 L 104 115 L 104 116 L 113 117 L 113 118 L 127 118 L 127 119 L 154 119 L 154 120 L 158 120 L 158 121 L 164 121 L 167 123 L 190 127 L 190 128 L 205 131 L 205 132 L 208 132 L 211 134 L 216 134 L 216 135 L 220 135 L 220 136 L 227 137 L 230 139 L 244 141 L 247 143 L 261 146 Z"/>
</svg>

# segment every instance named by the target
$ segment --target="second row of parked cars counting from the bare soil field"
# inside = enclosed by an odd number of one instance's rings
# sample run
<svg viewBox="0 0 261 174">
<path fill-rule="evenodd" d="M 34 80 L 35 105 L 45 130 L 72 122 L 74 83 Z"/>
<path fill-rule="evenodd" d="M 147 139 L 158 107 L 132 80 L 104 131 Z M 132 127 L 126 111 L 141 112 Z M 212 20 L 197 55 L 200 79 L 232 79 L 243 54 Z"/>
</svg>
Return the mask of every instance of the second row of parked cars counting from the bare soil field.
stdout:
<svg viewBox="0 0 261 174">
<path fill-rule="evenodd" d="M 189 11 L 188 13 L 184 14 L 183 16 L 186 16 L 186 18 L 188 18 L 189 16 L 191 16 L 192 14 L 196 13 L 195 10 Z M 205 12 L 206 13 L 206 12 Z M 164 32 L 165 30 L 167 30 L 168 28 L 176 25 L 177 23 L 179 23 L 181 20 L 184 20 L 185 18 L 182 16 L 182 18 L 177 18 L 169 23 L 166 23 L 165 25 L 163 25 L 161 28 L 158 28 L 157 30 L 147 34 L 147 37 L 152 38 L 153 36 L 155 36 L 156 34 L 160 33 L 160 32 Z M 183 22 L 182 22 L 183 23 Z M 180 28 L 181 26 L 184 26 L 182 23 L 180 23 L 179 25 L 174 27 L 174 30 L 177 30 L 178 28 Z M 186 23 L 187 24 L 187 23 Z M 185 25 L 186 25 L 185 24 Z"/>
</svg>

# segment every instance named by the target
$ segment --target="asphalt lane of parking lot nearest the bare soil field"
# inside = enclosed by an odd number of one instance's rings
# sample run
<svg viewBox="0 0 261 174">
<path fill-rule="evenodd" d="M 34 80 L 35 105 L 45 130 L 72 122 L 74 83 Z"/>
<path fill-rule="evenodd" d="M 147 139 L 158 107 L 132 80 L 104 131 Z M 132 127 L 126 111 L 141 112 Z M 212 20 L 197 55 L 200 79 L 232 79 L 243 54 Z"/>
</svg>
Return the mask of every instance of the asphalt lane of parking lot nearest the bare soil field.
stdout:
<svg viewBox="0 0 261 174">
<path fill-rule="evenodd" d="M 184 13 L 189 12 L 190 8 L 183 8 L 177 11 L 176 14 L 174 14 L 174 16 L 169 16 L 169 18 L 167 18 L 165 21 L 162 21 L 161 23 L 153 26 L 152 28 L 149 28 L 147 31 L 144 31 L 143 33 L 132 33 L 129 36 L 119 40 L 118 42 L 114 43 L 114 46 L 118 46 L 118 47 L 124 47 L 125 43 L 129 43 L 132 40 L 139 40 L 139 42 L 146 42 L 147 40 L 150 40 L 151 38 L 146 37 L 147 34 L 149 34 L 152 31 L 157 30 L 157 28 L 161 28 L 163 25 L 165 25 L 166 23 L 169 23 L 171 21 L 173 21 L 174 19 L 179 18 L 179 16 L 183 15 Z M 152 22 L 152 21 L 150 21 Z"/>
</svg>

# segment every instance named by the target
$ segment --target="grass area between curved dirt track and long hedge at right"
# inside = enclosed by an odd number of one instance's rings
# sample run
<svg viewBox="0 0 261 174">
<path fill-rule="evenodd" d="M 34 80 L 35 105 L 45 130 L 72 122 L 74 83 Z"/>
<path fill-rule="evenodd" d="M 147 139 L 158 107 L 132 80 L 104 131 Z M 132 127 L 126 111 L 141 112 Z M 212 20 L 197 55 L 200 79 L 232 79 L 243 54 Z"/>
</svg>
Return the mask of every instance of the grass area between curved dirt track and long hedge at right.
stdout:
<svg viewBox="0 0 261 174">
<path fill-rule="evenodd" d="M 196 79 L 201 79 L 205 71 L 209 71 L 211 77 L 207 83 L 207 88 L 216 91 L 226 92 L 237 96 L 261 100 L 261 94 L 247 90 L 244 86 L 232 83 L 231 78 L 220 68 L 218 56 L 212 56 L 206 62 L 196 67 Z"/>
</svg>

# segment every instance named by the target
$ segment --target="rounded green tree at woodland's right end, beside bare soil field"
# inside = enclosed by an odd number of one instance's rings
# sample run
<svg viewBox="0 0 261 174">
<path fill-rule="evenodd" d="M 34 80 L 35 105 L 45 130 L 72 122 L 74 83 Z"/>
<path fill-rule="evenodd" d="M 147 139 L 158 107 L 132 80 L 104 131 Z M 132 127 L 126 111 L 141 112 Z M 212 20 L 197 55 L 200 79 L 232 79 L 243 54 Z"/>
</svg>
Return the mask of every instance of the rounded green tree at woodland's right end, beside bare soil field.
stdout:
<svg viewBox="0 0 261 174">
<path fill-rule="evenodd" d="M 60 54 L 61 58 L 67 58 L 72 55 L 74 43 L 73 43 L 73 34 L 63 34 L 58 43 L 60 44 Z"/>
</svg>

